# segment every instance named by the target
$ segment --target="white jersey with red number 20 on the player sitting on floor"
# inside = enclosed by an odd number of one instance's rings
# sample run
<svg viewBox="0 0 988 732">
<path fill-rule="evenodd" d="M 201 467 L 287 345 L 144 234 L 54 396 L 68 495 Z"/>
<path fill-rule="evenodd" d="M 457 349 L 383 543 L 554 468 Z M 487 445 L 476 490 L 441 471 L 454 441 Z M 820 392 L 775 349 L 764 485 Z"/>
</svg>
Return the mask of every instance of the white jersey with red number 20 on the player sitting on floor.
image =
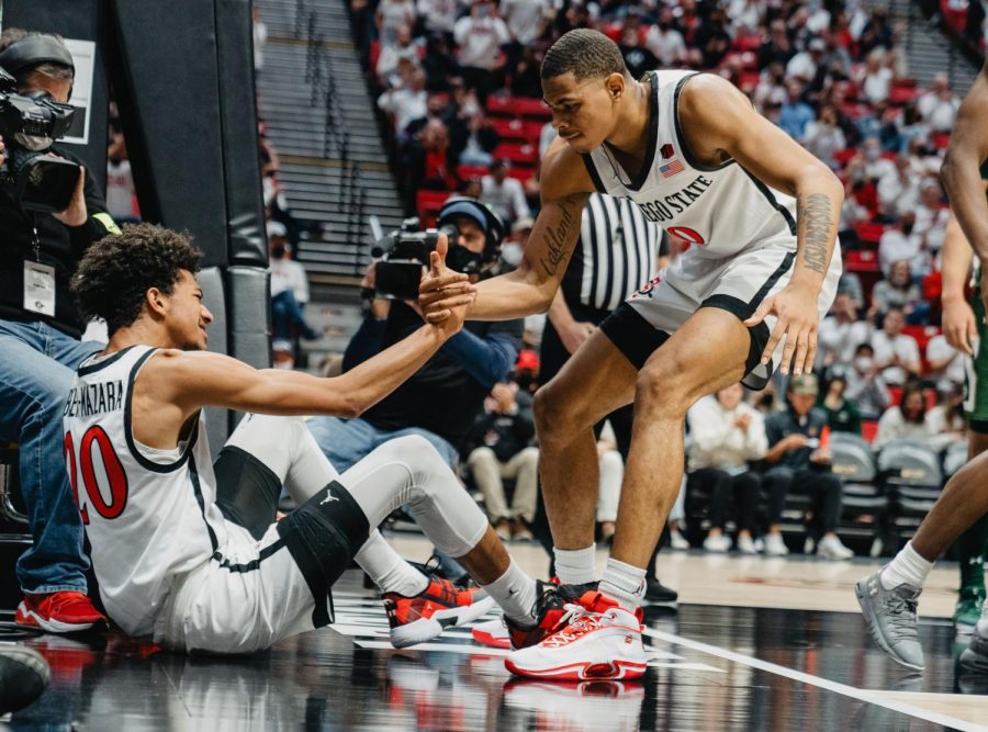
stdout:
<svg viewBox="0 0 988 732">
<path fill-rule="evenodd" d="M 222 560 L 227 544 L 202 416 L 175 450 L 142 446 L 131 431 L 134 381 L 155 351 L 134 346 L 83 361 L 63 414 L 100 595 L 132 635 L 153 631 L 176 575 Z"/>
</svg>

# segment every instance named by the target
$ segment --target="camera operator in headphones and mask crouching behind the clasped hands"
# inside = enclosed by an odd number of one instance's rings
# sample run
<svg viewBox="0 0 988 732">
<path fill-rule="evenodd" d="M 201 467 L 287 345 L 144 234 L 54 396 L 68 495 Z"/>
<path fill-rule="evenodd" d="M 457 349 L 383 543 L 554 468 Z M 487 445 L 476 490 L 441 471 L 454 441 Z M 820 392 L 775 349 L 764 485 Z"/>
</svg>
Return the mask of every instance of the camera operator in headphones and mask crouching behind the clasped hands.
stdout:
<svg viewBox="0 0 988 732">
<path fill-rule="evenodd" d="M 452 225 L 459 233 L 457 239 L 450 237 L 448 260 L 458 262 L 460 271 L 474 269 L 479 270 L 478 279 L 484 277 L 496 261 L 504 238 L 499 217 L 475 199 L 461 198 L 442 206 L 437 225 Z M 377 267 L 371 264 L 364 278 L 368 294 L 375 284 Z M 344 371 L 420 326 L 422 317 L 406 303 L 371 297 L 344 356 Z M 340 472 L 380 444 L 404 435 L 425 437 L 454 466 L 484 398 L 514 367 L 523 331 L 520 318 L 468 323 L 414 376 L 360 417 L 314 417 L 308 428 Z"/>
</svg>

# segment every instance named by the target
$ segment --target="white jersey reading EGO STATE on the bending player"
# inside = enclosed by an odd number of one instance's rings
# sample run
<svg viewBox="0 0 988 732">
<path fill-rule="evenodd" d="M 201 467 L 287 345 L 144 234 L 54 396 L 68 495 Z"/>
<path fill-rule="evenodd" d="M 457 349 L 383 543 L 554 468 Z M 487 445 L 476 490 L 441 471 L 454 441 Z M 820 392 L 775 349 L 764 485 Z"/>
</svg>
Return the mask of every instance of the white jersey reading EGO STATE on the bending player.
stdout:
<svg viewBox="0 0 988 732">
<path fill-rule="evenodd" d="M 692 243 L 692 256 L 722 258 L 791 236 L 796 199 L 773 190 L 734 160 L 709 167 L 683 142 L 676 105 L 694 71 L 650 71 L 649 144 L 640 171 L 625 171 L 606 145 L 583 156 L 602 193 L 629 198 L 670 234 Z"/>
</svg>

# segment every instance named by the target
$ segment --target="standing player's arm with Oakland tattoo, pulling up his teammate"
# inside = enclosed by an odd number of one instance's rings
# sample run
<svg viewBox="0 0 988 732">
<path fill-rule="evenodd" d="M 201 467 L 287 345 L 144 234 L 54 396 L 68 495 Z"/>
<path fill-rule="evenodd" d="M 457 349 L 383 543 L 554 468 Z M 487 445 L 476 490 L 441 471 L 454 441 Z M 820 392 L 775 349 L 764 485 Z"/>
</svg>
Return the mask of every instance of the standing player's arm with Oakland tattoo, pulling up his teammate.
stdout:
<svg viewBox="0 0 988 732">
<path fill-rule="evenodd" d="M 583 160 L 557 139 L 542 160 L 542 207 L 521 262 L 513 272 L 476 285 L 470 319 L 508 320 L 549 308 L 580 238 L 583 206 L 593 190 Z M 430 322 L 446 309 L 442 286 L 441 278 L 422 282 L 418 303 Z"/>
</svg>

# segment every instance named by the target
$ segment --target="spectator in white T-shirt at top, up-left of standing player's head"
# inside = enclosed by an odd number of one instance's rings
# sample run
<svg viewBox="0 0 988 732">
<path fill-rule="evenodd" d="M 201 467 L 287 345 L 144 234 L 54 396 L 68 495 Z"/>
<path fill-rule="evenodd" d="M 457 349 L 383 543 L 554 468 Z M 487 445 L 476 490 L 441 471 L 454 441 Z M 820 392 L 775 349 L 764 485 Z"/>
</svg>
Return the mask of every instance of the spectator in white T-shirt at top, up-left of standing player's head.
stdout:
<svg viewBox="0 0 988 732">
<path fill-rule="evenodd" d="M 491 0 L 473 0 L 470 14 L 457 21 L 453 37 L 460 47 L 463 80 L 483 105 L 495 89 L 495 74 L 504 66 L 501 47 L 512 40 L 507 25 Z"/>
</svg>

